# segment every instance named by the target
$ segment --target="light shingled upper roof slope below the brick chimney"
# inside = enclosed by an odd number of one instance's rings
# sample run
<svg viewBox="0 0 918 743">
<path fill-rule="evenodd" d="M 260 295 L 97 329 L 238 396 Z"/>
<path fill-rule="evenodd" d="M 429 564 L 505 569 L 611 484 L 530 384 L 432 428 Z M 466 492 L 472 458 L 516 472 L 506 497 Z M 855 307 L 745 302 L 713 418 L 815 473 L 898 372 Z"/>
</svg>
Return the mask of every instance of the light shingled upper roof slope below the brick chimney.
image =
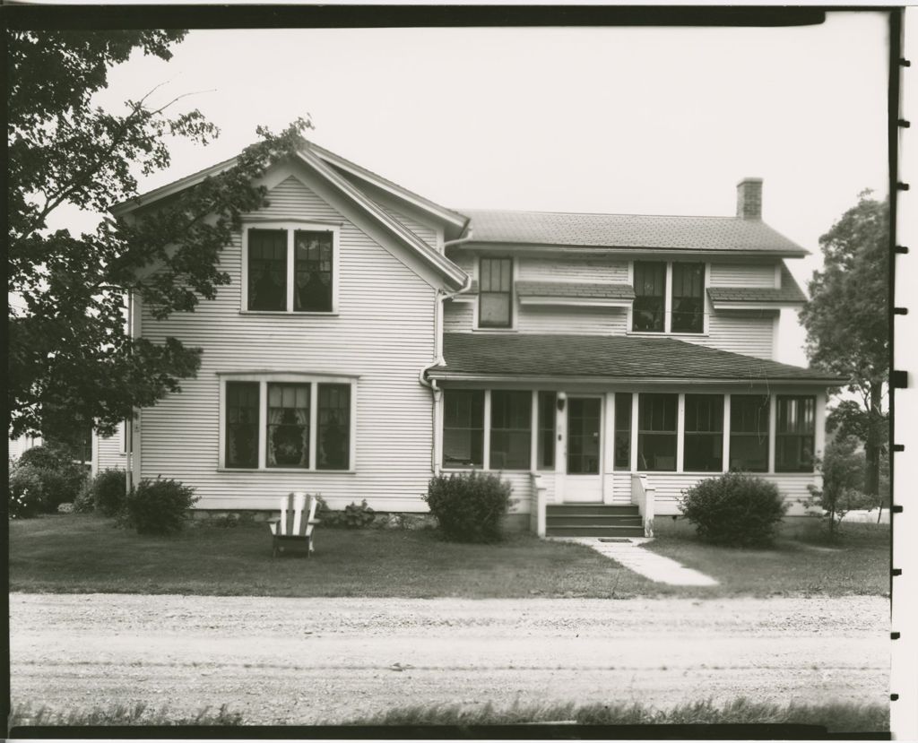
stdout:
<svg viewBox="0 0 918 743">
<path fill-rule="evenodd" d="M 809 255 L 760 219 L 462 209 L 479 243 Z"/>
</svg>

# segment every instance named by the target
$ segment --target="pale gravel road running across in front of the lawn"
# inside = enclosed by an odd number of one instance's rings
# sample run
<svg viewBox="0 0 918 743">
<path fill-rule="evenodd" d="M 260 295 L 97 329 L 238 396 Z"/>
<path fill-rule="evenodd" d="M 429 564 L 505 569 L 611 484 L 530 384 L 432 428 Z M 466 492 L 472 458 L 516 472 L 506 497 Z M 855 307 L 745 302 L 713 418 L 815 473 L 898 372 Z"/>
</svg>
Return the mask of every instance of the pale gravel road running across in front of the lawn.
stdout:
<svg viewBox="0 0 918 743">
<path fill-rule="evenodd" d="M 403 704 L 889 700 L 889 601 L 10 595 L 13 704 L 229 704 L 248 724 Z"/>
</svg>

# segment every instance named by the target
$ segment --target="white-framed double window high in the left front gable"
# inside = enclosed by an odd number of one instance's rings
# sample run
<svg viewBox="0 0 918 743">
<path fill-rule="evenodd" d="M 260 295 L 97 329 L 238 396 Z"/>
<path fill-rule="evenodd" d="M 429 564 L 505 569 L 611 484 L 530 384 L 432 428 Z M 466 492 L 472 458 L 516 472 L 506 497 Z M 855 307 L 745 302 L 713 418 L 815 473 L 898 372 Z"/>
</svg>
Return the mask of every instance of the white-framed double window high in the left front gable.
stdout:
<svg viewBox="0 0 918 743">
<path fill-rule="evenodd" d="M 337 311 L 337 227 L 269 223 L 243 230 L 247 312 Z"/>
</svg>

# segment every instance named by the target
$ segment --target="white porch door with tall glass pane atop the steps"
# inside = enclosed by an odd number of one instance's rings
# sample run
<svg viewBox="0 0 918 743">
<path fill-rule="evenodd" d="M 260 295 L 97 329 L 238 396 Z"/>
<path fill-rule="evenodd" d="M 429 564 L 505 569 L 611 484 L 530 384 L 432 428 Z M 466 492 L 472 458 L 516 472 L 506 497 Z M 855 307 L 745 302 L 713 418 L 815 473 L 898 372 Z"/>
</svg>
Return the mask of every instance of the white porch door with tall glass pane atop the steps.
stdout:
<svg viewBox="0 0 918 743">
<path fill-rule="evenodd" d="M 565 501 L 602 503 L 602 398 L 567 398 Z"/>
</svg>

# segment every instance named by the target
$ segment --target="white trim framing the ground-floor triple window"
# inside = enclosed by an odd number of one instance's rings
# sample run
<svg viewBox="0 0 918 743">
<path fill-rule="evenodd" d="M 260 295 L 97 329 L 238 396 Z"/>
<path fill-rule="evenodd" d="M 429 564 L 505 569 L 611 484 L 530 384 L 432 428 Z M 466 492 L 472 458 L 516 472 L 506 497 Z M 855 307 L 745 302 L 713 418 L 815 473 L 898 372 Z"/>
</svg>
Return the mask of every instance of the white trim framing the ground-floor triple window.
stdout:
<svg viewBox="0 0 918 743">
<path fill-rule="evenodd" d="M 324 313 L 323 313 L 324 314 Z M 341 374 L 316 374 L 297 372 L 218 372 L 219 416 L 218 416 L 218 465 L 221 472 L 305 472 L 327 475 L 356 472 L 357 456 L 357 387 L 359 377 Z M 228 382 L 257 382 L 258 386 L 258 467 L 228 467 L 226 464 L 226 405 Z M 269 383 L 309 384 L 309 466 L 268 467 L 267 466 L 267 391 Z M 348 469 L 322 470 L 317 468 L 316 419 L 319 405 L 319 384 L 348 384 L 351 387 L 351 427 L 349 431 Z"/>
</svg>

